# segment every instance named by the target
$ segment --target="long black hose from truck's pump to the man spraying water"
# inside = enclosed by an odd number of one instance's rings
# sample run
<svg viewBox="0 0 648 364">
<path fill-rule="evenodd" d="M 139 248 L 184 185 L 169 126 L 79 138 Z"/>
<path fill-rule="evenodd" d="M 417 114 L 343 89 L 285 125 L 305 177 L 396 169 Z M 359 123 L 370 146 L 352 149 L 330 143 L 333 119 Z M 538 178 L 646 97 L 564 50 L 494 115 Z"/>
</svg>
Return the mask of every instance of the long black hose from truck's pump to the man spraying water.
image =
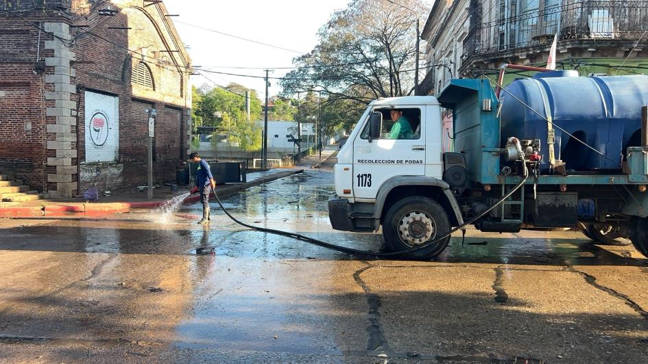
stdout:
<svg viewBox="0 0 648 364">
<path fill-rule="evenodd" d="M 371 255 L 371 256 L 374 256 L 374 257 L 397 257 L 399 255 L 405 255 L 405 254 L 408 254 L 410 252 L 416 252 L 418 250 L 422 250 L 424 248 L 427 248 L 428 246 L 431 246 L 432 244 L 436 244 L 437 242 L 440 242 L 441 240 L 445 239 L 446 237 L 452 235 L 456 231 L 464 229 L 466 226 L 474 223 L 475 221 L 479 220 L 480 218 L 483 218 L 483 216 L 485 216 L 485 214 L 489 213 L 495 207 L 499 206 L 501 203 L 503 203 L 507 198 L 509 198 L 512 194 L 514 194 L 517 190 L 520 189 L 520 187 L 522 187 L 525 184 L 525 182 L 529 178 L 529 170 L 527 169 L 527 164 L 526 164 L 525 161 L 522 161 L 522 165 L 523 165 L 523 168 L 524 168 L 524 179 L 522 181 L 520 181 L 520 183 L 515 185 L 513 190 L 511 190 L 509 193 L 505 194 L 505 196 L 500 198 L 490 208 L 483 211 L 478 216 L 475 216 L 474 218 L 468 220 L 468 222 L 464 222 L 464 224 L 461 224 L 460 226 L 457 226 L 455 229 L 451 229 L 451 231 L 448 231 L 442 237 L 434 239 L 431 242 L 427 242 L 425 244 L 422 244 L 421 246 L 414 246 L 414 247 L 409 248 L 409 249 L 398 250 L 397 252 L 370 252 L 370 251 L 366 251 L 366 250 L 358 250 L 358 249 L 354 249 L 354 248 L 347 248 L 346 246 L 339 246 L 339 245 L 335 245 L 335 244 L 331 244 L 331 243 L 327 243 L 327 242 L 322 242 L 322 240 L 314 239 L 313 237 L 307 237 L 307 236 L 304 236 L 304 235 L 301 235 L 301 234 L 298 234 L 298 233 L 290 233 L 288 231 L 267 229 L 267 228 L 264 228 L 264 227 L 261 227 L 261 226 L 253 226 L 253 225 L 250 225 L 250 224 L 246 224 L 245 222 L 242 222 L 242 221 L 238 220 L 237 218 L 235 218 L 234 216 L 232 216 L 232 214 L 230 214 L 229 211 L 227 211 L 227 209 L 225 209 L 225 207 L 221 203 L 220 198 L 218 198 L 218 196 L 216 194 L 215 194 L 215 196 L 216 196 L 216 201 L 218 202 L 218 205 L 221 207 L 221 209 L 223 209 L 223 212 L 230 219 L 232 219 L 232 221 L 236 222 L 237 224 L 239 224 L 241 226 L 245 226 L 246 228 L 254 229 L 254 230 L 257 230 L 257 231 L 263 231 L 265 233 L 281 235 L 281 236 L 285 236 L 285 237 L 292 237 L 293 239 L 297 239 L 297 240 L 300 240 L 302 242 L 307 242 L 309 244 L 322 246 L 322 248 L 328 248 L 328 249 L 331 249 L 331 250 L 337 250 L 339 252 L 344 252 L 344 253 L 348 253 L 348 254 Z"/>
</svg>

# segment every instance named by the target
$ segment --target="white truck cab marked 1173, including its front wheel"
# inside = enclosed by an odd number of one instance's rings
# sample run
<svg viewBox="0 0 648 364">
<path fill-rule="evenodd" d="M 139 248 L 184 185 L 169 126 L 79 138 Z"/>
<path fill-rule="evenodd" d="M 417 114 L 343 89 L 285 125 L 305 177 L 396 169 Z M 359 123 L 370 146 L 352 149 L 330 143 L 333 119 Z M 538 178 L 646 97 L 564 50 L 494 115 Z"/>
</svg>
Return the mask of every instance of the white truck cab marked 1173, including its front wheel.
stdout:
<svg viewBox="0 0 648 364">
<path fill-rule="evenodd" d="M 400 113 L 411 130 L 389 135 L 396 122 L 392 114 Z M 331 224 L 337 230 L 363 232 L 378 231 L 382 225 L 385 242 L 392 250 L 429 242 L 439 236 L 437 233 L 462 223 L 443 172 L 437 99 L 403 96 L 373 101 L 337 155 L 337 196 L 329 200 L 328 209 Z M 448 240 L 416 255 L 433 256 Z"/>
</svg>

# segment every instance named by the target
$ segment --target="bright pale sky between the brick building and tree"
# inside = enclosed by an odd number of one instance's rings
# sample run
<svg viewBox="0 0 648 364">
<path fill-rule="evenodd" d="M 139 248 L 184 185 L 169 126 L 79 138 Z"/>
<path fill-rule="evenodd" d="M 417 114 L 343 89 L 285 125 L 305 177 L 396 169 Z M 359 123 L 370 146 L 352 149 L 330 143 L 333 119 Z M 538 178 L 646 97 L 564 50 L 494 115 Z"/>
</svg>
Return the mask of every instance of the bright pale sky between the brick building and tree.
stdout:
<svg viewBox="0 0 648 364">
<path fill-rule="evenodd" d="M 317 44 L 317 29 L 331 13 L 346 8 L 349 0 L 164 0 L 182 42 L 188 47 L 193 66 L 213 70 L 263 77 L 265 68 L 291 67 L 293 57 L 308 53 Z M 200 29 L 204 28 L 204 29 Z M 206 30 L 206 29 L 211 29 Z M 231 34 L 257 42 L 272 44 L 277 49 L 215 33 Z M 286 50 L 289 49 L 289 50 Z M 225 68 L 250 67 L 259 69 Z M 282 77 L 289 70 L 276 69 L 270 77 Z M 253 88 L 263 99 L 263 79 L 206 73 L 192 76 L 200 87 L 227 86 L 230 82 Z M 211 80 L 211 81 L 210 81 Z M 269 96 L 281 89 L 276 79 L 270 80 Z"/>
</svg>

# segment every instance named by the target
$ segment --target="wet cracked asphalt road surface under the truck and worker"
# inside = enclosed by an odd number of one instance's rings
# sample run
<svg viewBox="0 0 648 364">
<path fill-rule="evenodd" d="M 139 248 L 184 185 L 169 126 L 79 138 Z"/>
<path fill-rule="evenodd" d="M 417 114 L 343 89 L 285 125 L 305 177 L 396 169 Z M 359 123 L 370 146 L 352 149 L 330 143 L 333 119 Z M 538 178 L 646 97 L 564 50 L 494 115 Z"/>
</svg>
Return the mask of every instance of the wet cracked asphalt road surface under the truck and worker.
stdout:
<svg viewBox="0 0 648 364">
<path fill-rule="evenodd" d="M 307 170 L 224 203 L 252 224 L 381 250 L 380 235 L 331 229 L 332 192 L 330 170 Z M 629 247 L 470 230 L 436 261 L 374 260 L 221 211 L 205 229 L 199 212 L 0 220 L 0 362 L 647 360 L 648 265 Z"/>
</svg>

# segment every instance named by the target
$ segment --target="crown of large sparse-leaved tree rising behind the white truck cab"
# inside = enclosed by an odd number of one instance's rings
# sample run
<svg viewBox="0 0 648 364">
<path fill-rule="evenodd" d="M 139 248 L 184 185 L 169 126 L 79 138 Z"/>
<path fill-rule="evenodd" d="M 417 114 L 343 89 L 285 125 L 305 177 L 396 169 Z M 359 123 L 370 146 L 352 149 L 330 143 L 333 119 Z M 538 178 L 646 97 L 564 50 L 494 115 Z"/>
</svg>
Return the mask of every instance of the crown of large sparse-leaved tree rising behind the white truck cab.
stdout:
<svg viewBox="0 0 648 364">
<path fill-rule="evenodd" d="M 399 2 L 420 16 L 427 14 L 420 0 Z M 352 0 L 320 28 L 315 49 L 293 60 L 297 69 L 281 86 L 286 94 L 320 88 L 331 98 L 358 103 L 411 94 L 415 23 L 413 12 L 394 3 Z"/>
</svg>

